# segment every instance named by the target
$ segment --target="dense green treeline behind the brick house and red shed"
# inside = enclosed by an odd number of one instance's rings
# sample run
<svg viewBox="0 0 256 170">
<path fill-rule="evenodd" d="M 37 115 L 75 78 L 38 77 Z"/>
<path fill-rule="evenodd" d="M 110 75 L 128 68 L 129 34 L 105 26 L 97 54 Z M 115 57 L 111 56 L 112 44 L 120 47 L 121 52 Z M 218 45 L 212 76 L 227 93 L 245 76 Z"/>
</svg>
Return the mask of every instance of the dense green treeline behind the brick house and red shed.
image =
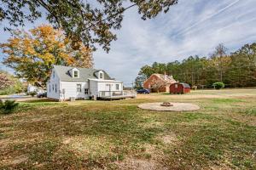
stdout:
<svg viewBox="0 0 256 170">
<path fill-rule="evenodd" d="M 137 87 L 153 73 L 172 75 L 179 82 L 199 88 L 212 88 L 213 82 L 224 82 L 226 87 L 256 86 L 256 42 L 246 44 L 234 53 L 219 44 L 209 57 L 190 56 L 183 61 L 154 62 L 144 65 L 136 78 Z"/>
</svg>

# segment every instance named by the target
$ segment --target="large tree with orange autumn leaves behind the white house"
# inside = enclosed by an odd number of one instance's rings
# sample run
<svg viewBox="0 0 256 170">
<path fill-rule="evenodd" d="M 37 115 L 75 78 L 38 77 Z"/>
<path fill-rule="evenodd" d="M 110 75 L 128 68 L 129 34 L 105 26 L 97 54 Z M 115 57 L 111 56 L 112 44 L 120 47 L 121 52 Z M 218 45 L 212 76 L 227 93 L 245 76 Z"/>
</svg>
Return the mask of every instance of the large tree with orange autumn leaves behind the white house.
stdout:
<svg viewBox="0 0 256 170">
<path fill-rule="evenodd" d="M 71 46 L 72 42 L 63 31 L 51 26 L 38 26 L 28 32 L 13 31 L 13 37 L 0 44 L 7 54 L 3 64 L 13 68 L 17 77 L 43 88 L 52 65 L 92 67 L 90 48 L 82 44 L 76 49 Z"/>
</svg>

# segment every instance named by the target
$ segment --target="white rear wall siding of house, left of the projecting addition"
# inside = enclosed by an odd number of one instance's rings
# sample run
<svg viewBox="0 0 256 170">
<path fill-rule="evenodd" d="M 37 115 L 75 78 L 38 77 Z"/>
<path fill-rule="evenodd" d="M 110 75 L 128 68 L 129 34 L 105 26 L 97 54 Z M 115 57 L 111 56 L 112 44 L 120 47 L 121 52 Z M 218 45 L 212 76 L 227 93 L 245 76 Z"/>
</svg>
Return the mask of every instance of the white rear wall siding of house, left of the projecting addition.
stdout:
<svg viewBox="0 0 256 170">
<path fill-rule="evenodd" d="M 77 84 L 81 84 L 81 92 L 77 92 Z M 89 88 L 89 82 L 61 82 L 61 95 L 60 99 L 89 99 L 89 94 L 84 94 L 84 89 Z M 65 93 L 64 93 L 65 92 Z"/>
</svg>

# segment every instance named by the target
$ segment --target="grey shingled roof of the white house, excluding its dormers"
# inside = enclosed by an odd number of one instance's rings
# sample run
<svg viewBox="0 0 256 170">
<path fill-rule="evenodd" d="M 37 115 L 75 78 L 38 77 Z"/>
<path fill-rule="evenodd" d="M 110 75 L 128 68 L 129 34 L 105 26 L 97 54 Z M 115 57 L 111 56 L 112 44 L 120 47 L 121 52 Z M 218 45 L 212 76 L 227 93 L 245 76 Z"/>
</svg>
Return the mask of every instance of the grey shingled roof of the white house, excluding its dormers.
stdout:
<svg viewBox="0 0 256 170">
<path fill-rule="evenodd" d="M 71 66 L 63 66 L 63 65 L 53 65 L 53 68 L 55 69 L 55 73 L 58 75 L 61 81 L 63 82 L 85 82 L 88 79 L 97 79 L 97 71 L 102 70 L 96 70 L 96 69 L 87 69 L 87 68 L 79 68 L 79 67 L 71 67 Z M 69 71 L 71 71 L 73 68 L 76 68 L 79 70 L 79 78 L 73 78 Z M 108 76 L 108 73 L 106 71 L 104 72 L 104 80 L 113 80 Z"/>
</svg>

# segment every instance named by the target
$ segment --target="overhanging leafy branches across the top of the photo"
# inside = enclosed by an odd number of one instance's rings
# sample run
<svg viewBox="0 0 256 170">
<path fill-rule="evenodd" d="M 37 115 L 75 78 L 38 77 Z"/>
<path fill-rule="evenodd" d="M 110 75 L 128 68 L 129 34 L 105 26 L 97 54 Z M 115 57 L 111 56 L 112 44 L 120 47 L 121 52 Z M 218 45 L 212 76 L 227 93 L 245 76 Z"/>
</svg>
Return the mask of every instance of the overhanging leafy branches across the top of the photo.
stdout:
<svg viewBox="0 0 256 170">
<path fill-rule="evenodd" d="M 96 49 L 96 43 L 109 50 L 110 42 L 116 40 L 113 30 L 121 27 L 124 12 L 137 6 L 142 19 L 154 18 L 161 11 L 165 13 L 177 0 L 130 0 L 125 7 L 121 0 L 96 0 L 91 3 L 81 0 L 0 0 L 0 22 L 9 21 L 9 26 L 24 26 L 42 17 L 56 28 L 62 28 L 73 45 L 84 42 L 86 47 Z M 9 27 L 5 27 L 9 29 Z"/>
</svg>

